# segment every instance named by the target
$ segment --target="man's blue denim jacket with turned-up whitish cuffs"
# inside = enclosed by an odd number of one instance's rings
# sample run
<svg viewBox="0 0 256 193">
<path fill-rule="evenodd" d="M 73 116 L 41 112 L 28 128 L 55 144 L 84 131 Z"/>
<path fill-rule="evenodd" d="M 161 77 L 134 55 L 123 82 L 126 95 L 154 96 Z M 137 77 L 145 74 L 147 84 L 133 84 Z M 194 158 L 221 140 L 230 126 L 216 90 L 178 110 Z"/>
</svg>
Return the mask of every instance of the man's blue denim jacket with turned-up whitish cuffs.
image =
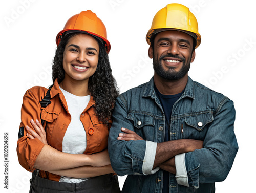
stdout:
<svg viewBox="0 0 256 193">
<path fill-rule="evenodd" d="M 175 157 L 177 173 L 169 174 L 169 192 L 215 192 L 214 183 L 225 180 L 238 151 L 234 119 L 229 98 L 188 77 L 184 93 L 173 106 L 170 140 L 204 143 L 202 149 Z M 144 140 L 117 140 L 121 127 Z M 153 164 L 157 143 L 164 142 L 164 128 L 154 77 L 117 98 L 108 146 L 114 171 L 128 175 L 122 192 L 162 192 L 163 170 L 153 169 Z"/>
</svg>

